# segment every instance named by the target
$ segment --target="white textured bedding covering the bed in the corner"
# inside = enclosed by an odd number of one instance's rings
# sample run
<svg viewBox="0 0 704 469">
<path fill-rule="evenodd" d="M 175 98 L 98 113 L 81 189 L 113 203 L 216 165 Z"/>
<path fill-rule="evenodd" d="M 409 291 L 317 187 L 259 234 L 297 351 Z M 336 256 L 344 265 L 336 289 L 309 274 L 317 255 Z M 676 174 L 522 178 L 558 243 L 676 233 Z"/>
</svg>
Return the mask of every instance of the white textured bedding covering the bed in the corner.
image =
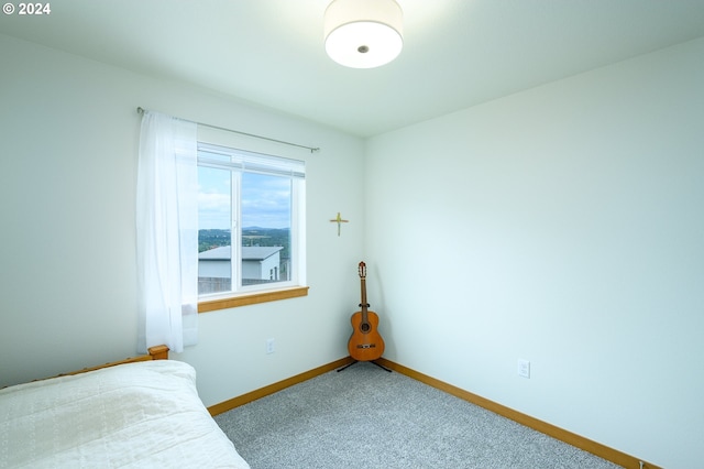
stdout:
<svg viewBox="0 0 704 469">
<path fill-rule="evenodd" d="M 0 468 L 249 468 L 176 360 L 0 390 Z"/>
</svg>

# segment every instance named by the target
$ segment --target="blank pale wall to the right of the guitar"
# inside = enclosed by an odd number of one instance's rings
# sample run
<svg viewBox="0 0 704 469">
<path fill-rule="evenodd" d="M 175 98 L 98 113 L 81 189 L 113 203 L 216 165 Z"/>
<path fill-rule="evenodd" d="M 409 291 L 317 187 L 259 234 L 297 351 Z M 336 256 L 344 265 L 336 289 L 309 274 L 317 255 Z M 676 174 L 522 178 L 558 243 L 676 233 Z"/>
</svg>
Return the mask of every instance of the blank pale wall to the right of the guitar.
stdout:
<svg viewBox="0 0 704 469">
<path fill-rule="evenodd" d="M 702 84 L 698 40 L 372 139 L 366 257 L 386 357 L 701 466 Z"/>
</svg>

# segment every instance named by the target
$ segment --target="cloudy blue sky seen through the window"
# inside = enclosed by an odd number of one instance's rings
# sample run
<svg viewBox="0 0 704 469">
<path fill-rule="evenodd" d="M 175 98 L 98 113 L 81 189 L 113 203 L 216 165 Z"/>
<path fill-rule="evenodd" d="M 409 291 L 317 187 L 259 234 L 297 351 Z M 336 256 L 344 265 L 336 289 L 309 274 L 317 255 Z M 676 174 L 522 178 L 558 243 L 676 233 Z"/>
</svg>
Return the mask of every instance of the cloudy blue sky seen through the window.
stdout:
<svg viewBox="0 0 704 469">
<path fill-rule="evenodd" d="M 200 229 L 230 229 L 230 172 L 198 168 Z M 240 227 L 290 228 L 290 179 L 263 174 L 242 174 Z"/>
</svg>

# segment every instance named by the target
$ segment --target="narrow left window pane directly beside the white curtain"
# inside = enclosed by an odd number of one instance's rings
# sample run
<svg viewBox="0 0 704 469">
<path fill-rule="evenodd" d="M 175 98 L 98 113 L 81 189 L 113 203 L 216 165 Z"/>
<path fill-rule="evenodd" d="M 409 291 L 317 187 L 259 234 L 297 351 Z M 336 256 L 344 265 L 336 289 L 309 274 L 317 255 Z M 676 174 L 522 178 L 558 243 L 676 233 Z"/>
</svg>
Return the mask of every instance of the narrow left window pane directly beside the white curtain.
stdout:
<svg viewBox="0 0 704 469">
<path fill-rule="evenodd" d="M 232 175 L 198 167 L 198 294 L 232 290 Z"/>
</svg>

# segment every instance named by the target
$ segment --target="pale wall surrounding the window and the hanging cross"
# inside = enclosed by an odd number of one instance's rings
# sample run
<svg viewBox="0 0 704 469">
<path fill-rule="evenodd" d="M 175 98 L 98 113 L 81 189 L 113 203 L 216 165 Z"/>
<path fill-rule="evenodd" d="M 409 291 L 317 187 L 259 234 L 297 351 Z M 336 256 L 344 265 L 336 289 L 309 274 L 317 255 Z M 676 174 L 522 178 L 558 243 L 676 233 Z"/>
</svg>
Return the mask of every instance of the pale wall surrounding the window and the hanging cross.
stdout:
<svg viewBox="0 0 704 469">
<path fill-rule="evenodd" d="M 196 367 L 206 405 L 346 356 L 361 140 L 3 35 L 0 57 L 0 386 L 136 352 L 138 106 L 322 149 L 231 142 L 306 161 L 310 291 L 200 315 L 199 345 L 174 358 Z M 338 211 L 351 220 L 339 238 Z"/>
</svg>

